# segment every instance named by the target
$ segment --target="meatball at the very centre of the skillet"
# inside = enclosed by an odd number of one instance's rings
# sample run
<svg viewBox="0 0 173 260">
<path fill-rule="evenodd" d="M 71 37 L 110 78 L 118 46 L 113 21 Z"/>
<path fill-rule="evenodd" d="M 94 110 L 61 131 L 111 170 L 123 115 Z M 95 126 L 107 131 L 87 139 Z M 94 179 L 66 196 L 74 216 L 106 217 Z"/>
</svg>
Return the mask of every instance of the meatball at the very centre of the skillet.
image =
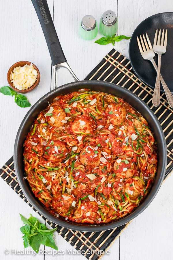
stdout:
<svg viewBox="0 0 173 260">
<path fill-rule="evenodd" d="M 99 166 L 101 151 L 94 149 L 94 146 L 85 146 L 80 153 L 80 161 L 85 166 L 95 168 Z"/>
</svg>

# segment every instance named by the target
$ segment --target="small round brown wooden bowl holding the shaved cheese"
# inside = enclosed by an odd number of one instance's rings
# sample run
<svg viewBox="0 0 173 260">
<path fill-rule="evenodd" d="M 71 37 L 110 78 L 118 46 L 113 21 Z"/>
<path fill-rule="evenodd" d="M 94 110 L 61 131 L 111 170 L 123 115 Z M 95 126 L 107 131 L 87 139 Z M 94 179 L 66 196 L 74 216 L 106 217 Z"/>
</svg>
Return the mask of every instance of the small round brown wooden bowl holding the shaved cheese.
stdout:
<svg viewBox="0 0 173 260">
<path fill-rule="evenodd" d="M 29 92 L 31 92 L 31 91 L 33 91 L 33 90 L 35 90 L 37 87 L 38 87 L 38 85 L 39 85 L 39 83 L 40 83 L 40 71 L 38 70 L 38 68 L 33 64 L 33 67 L 35 68 L 35 70 L 37 70 L 37 73 L 38 73 L 38 75 L 37 75 L 37 80 L 35 81 L 35 83 L 34 83 L 34 85 L 32 86 L 32 87 L 30 87 L 30 88 L 28 88 L 28 89 L 24 89 L 24 90 L 19 90 L 19 89 L 17 89 L 17 88 L 15 88 L 14 86 L 13 86 L 13 84 L 12 84 L 12 82 L 11 82 L 11 80 L 10 80 L 10 74 L 11 74 L 11 72 L 14 70 L 14 68 L 16 68 L 16 67 L 23 67 L 24 65 L 30 65 L 32 62 L 27 62 L 27 61 L 21 61 L 21 62 L 16 62 L 15 64 L 13 64 L 10 68 L 9 68 L 9 70 L 8 70 L 8 73 L 7 73 L 7 81 L 8 81 L 8 84 L 9 84 L 9 86 L 13 89 L 13 90 L 15 90 L 16 92 L 19 92 L 19 93 L 29 93 Z"/>
</svg>

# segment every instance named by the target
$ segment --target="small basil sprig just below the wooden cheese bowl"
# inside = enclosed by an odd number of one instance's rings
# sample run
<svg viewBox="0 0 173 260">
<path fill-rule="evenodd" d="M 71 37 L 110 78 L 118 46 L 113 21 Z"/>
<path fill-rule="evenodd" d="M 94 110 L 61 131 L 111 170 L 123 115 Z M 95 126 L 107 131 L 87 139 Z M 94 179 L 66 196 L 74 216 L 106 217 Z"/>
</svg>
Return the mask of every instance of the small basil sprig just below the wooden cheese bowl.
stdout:
<svg viewBox="0 0 173 260">
<path fill-rule="evenodd" d="M 0 92 L 6 96 L 15 96 L 14 101 L 19 107 L 30 107 L 31 104 L 28 102 L 26 96 L 22 94 L 18 94 L 16 91 L 14 91 L 12 88 L 8 86 L 4 86 L 0 88 Z"/>
</svg>

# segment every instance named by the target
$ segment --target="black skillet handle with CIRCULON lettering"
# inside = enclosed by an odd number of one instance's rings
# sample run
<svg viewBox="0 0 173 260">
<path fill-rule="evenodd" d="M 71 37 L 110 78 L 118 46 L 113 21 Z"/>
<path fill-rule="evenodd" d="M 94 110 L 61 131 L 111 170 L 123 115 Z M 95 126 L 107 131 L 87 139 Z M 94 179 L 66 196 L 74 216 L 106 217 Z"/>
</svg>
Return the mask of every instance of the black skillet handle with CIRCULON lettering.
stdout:
<svg viewBox="0 0 173 260">
<path fill-rule="evenodd" d="M 59 42 L 57 32 L 55 30 L 52 17 L 50 15 L 48 3 L 46 0 L 31 0 L 38 19 L 40 21 L 44 37 L 46 39 L 52 65 L 57 65 L 63 62 L 67 62 L 61 44 Z"/>
</svg>

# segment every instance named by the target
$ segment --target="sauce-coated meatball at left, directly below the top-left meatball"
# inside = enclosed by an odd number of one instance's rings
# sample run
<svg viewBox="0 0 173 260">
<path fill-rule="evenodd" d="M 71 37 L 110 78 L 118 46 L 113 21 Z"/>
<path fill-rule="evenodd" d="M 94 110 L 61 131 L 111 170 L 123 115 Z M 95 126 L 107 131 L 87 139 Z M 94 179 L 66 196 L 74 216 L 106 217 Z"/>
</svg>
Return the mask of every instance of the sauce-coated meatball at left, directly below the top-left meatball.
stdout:
<svg viewBox="0 0 173 260">
<path fill-rule="evenodd" d="M 57 153 L 58 151 L 58 153 Z M 49 140 L 47 145 L 44 147 L 44 158 L 52 163 L 62 161 L 66 158 L 67 148 L 65 144 L 59 140 Z"/>
</svg>

